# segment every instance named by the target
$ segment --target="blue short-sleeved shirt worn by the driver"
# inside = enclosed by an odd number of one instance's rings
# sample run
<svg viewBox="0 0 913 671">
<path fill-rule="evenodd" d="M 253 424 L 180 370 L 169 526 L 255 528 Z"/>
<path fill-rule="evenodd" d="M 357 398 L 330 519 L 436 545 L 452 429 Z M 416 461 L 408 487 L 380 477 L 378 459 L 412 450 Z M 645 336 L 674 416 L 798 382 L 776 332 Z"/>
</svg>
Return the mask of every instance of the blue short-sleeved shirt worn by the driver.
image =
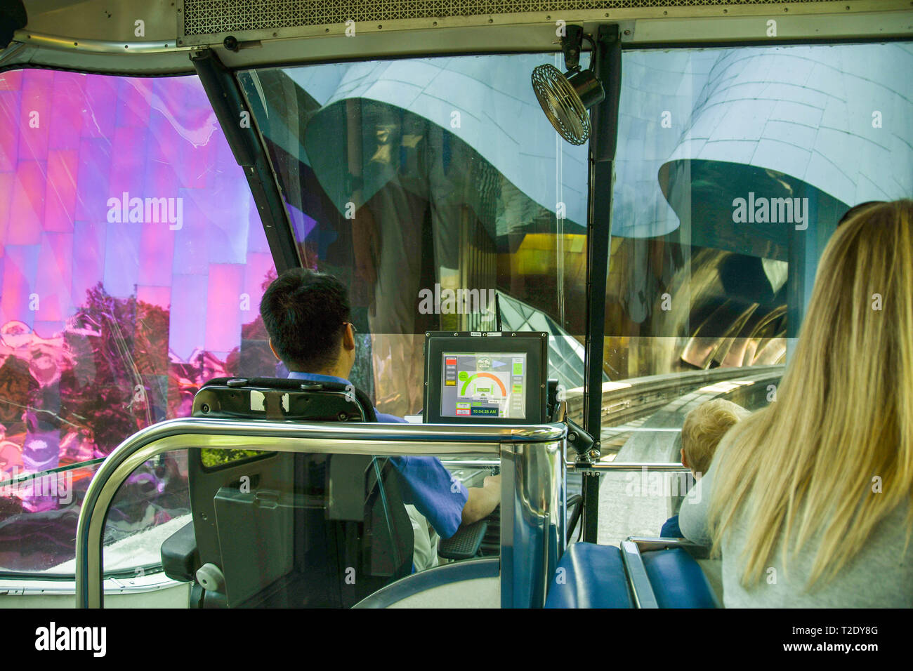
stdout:
<svg viewBox="0 0 913 671">
<path fill-rule="evenodd" d="M 341 377 L 314 372 L 289 372 L 289 379 L 352 384 Z M 378 413 L 376 408 L 374 412 L 378 422 L 405 423 L 402 417 L 394 414 Z M 451 476 L 436 456 L 391 456 L 390 463 L 403 483 L 404 503 L 415 506 L 442 539 L 453 536 L 463 521 L 463 507 L 469 498 L 463 483 Z"/>
</svg>

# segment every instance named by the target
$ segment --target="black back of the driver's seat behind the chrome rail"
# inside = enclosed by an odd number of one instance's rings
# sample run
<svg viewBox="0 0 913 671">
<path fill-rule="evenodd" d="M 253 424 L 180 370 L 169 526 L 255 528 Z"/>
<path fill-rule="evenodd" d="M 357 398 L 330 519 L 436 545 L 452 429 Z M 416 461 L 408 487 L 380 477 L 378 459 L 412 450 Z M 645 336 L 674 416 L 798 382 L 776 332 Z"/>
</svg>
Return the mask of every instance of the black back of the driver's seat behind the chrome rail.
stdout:
<svg viewBox="0 0 913 671">
<path fill-rule="evenodd" d="M 278 378 L 212 380 L 193 414 L 376 422 L 351 385 Z M 206 606 L 351 606 L 412 570 L 412 524 L 383 457 L 204 449 L 188 471 Z"/>
</svg>

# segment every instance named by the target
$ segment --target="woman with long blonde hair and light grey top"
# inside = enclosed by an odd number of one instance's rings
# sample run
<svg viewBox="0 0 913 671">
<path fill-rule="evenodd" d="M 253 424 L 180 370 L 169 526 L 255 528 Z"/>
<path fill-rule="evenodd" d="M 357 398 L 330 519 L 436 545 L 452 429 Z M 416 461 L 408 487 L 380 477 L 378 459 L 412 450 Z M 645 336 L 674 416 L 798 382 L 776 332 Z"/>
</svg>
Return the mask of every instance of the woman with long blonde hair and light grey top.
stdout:
<svg viewBox="0 0 913 671">
<path fill-rule="evenodd" d="M 913 606 L 913 201 L 860 208 L 821 257 L 777 400 L 682 505 L 727 607 Z"/>
</svg>

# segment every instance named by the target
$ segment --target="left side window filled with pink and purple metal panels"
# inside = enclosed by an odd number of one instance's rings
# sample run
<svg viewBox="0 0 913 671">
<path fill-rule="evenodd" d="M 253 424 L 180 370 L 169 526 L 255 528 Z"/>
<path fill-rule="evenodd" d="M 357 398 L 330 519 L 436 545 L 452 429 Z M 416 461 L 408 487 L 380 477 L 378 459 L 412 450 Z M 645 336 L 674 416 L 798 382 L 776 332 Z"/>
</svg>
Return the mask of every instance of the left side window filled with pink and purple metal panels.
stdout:
<svg viewBox="0 0 913 671">
<path fill-rule="evenodd" d="M 275 275 L 198 79 L 0 74 L 0 571 L 72 571 L 77 465 L 190 414 L 208 378 L 275 372 Z M 186 467 L 147 466 L 118 496 L 131 533 L 189 508 Z M 36 525 L 59 551 L 19 543 Z"/>
</svg>

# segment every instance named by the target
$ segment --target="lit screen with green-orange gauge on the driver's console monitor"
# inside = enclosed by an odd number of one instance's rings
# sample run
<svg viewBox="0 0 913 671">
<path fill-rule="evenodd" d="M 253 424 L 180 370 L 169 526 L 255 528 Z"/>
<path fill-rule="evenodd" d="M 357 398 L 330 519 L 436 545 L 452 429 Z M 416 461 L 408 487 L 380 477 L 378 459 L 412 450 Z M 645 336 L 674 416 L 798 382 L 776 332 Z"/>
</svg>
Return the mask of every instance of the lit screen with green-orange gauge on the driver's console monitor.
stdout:
<svg viewBox="0 0 913 671">
<path fill-rule="evenodd" d="M 441 416 L 526 419 L 525 352 L 444 352 Z"/>
</svg>

